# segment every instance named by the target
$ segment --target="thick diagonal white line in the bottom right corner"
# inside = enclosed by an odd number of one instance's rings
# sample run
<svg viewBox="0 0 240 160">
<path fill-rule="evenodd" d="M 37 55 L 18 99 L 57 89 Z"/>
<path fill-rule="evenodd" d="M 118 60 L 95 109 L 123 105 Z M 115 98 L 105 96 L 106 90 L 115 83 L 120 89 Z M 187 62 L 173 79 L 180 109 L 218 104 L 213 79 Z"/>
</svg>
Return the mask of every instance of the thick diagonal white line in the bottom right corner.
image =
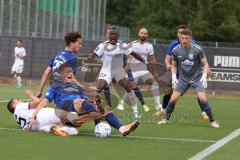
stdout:
<svg viewBox="0 0 240 160">
<path fill-rule="evenodd" d="M 218 150 L 219 148 L 221 148 L 222 146 L 224 146 L 226 143 L 230 142 L 232 139 L 238 137 L 239 135 L 240 135 L 240 128 L 233 131 L 228 136 L 218 140 L 216 143 L 214 143 L 213 145 L 209 146 L 208 148 L 202 150 L 201 152 L 197 153 L 196 155 L 192 156 L 188 160 L 203 159 L 203 158 L 207 157 L 208 155 L 212 154 L 213 152 L 215 152 L 216 150 Z"/>
</svg>

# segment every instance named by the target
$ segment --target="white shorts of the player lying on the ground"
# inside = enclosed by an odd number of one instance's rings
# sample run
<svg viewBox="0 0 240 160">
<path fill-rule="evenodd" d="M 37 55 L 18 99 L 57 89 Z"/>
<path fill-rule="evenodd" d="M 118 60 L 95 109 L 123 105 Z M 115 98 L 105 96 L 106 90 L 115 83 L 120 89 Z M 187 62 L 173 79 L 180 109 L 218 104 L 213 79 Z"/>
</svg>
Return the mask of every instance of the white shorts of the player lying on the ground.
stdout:
<svg viewBox="0 0 240 160">
<path fill-rule="evenodd" d="M 33 131 L 45 131 L 45 127 L 61 123 L 60 118 L 56 115 L 53 108 L 42 108 L 38 114 L 36 123 L 33 125 Z"/>
</svg>

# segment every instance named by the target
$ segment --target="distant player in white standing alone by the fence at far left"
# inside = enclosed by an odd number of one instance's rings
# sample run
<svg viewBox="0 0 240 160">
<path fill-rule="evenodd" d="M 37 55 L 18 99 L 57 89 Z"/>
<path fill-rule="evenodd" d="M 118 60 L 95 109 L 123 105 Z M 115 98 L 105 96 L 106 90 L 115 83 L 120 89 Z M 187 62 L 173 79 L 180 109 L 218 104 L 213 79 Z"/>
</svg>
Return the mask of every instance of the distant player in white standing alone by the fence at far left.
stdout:
<svg viewBox="0 0 240 160">
<path fill-rule="evenodd" d="M 17 88 L 22 87 L 21 74 L 23 72 L 24 58 L 26 57 L 26 50 L 23 48 L 21 39 L 17 40 L 16 47 L 14 48 L 15 61 L 12 66 L 11 75 L 17 79 Z"/>
</svg>

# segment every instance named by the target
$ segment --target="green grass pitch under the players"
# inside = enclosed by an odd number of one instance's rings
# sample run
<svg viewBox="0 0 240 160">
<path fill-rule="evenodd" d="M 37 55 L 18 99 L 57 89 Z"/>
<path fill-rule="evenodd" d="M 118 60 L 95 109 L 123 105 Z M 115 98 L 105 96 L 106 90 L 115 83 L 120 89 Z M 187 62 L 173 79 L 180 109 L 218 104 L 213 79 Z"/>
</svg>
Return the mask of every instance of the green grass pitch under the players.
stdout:
<svg viewBox="0 0 240 160">
<path fill-rule="evenodd" d="M 36 88 L 32 88 L 36 93 Z M 0 159 L 1 160 L 159 160 L 188 159 L 219 139 L 240 128 L 240 99 L 209 98 L 215 119 L 221 128 L 211 128 L 201 118 L 195 97 L 184 96 L 178 102 L 172 122 L 160 126 L 155 118 L 153 102 L 147 99 L 151 110 L 142 113 L 139 128 L 122 138 L 112 129 L 111 137 L 97 138 L 93 135 L 94 124 L 85 124 L 79 135 L 56 137 L 47 133 L 24 132 L 13 115 L 6 110 L 10 98 L 26 98 L 23 89 L 0 85 Z M 51 104 L 53 106 L 53 104 Z M 114 113 L 123 123 L 133 121 L 131 109 Z M 206 157 L 209 160 L 239 159 L 240 137 L 237 137 Z"/>
</svg>

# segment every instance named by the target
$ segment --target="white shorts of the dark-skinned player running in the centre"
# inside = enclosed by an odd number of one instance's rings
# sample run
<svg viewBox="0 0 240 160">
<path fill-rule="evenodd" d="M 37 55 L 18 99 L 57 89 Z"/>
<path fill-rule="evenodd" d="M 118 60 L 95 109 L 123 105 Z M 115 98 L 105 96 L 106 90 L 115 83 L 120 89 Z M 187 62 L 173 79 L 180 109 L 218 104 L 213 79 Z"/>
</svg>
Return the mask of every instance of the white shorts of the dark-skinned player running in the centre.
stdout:
<svg viewBox="0 0 240 160">
<path fill-rule="evenodd" d="M 114 71 L 102 69 L 98 76 L 98 79 L 104 79 L 108 84 L 111 83 L 113 78 L 115 78 L 117 82 L 119 82 L 123 78 L 126 78 L 125 70 L 123 68 L 118 68 L 115 69 Z"/>
</svg>

